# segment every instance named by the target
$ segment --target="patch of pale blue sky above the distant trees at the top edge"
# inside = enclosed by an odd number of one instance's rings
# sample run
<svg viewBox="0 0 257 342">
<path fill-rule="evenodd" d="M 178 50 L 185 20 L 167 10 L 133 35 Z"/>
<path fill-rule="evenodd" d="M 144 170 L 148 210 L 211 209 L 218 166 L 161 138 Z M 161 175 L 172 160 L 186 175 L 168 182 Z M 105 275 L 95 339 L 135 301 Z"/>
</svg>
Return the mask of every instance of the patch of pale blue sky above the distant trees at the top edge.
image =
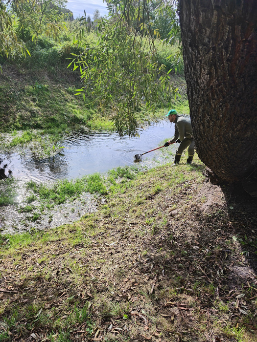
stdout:
<svg viewBox="0 0 257 342">
<path fill-rule="evenodd" d="M 74 19 L 84 16 L 84 10 L 87 17 L 90 16 L 91 19 L 95 9 L 99 10 L 102 17 L 108 14 L 106 2 L 103 0 L 68 0 L 66 8 L 73 12 Z"/>
</svg>

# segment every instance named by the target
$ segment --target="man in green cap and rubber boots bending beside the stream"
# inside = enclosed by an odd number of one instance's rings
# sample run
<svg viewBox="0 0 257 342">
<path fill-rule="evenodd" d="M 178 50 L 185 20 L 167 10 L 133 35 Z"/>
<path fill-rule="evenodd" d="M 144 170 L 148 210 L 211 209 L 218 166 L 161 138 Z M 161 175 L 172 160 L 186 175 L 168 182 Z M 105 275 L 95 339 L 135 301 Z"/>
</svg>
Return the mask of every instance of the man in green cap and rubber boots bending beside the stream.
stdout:
<svg viewBox="0 0 257 342">
<path fill-rule="evenodd" d="M 169 121 L 175 124 L 174 138 L 167 141 L 164 146 L 167 147 L 174 142 L 180 143 L 178 150 L 175 154 L 174 164 L 180 162 L 182 153 L 188 147 L 187 164 L 191 164 L 194 156 L 194 138 L 192 133 L 192 126 L 190 118 L 184 118 L 178 115 L 175 109 L 171 109 L 167 115 Z"/>
</svg>

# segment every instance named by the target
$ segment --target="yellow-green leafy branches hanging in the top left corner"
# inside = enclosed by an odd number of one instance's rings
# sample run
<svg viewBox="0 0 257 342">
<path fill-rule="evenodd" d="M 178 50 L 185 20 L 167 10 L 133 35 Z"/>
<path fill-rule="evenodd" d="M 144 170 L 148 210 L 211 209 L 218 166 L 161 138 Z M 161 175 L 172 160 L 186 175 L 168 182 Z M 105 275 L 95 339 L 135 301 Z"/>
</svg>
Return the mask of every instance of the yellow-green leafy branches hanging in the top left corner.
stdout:
<svg viewBox="0 0 257 342">
<path fill-rule="evenodd" d="M 67 0 L 0 0 L 0 55 L 13 50 L 29 54 L 26 42 L 37 41 L 43 32 L 55 40 L 65 26 L 60 7 Z"/>
</svg>

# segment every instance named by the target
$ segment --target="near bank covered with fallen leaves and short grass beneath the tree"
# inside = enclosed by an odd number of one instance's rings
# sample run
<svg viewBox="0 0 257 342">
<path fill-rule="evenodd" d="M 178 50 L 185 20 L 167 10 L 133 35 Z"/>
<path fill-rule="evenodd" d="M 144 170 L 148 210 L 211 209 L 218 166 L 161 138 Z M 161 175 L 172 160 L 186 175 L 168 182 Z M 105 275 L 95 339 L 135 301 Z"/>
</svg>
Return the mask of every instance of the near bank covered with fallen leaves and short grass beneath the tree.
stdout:
<svg viewBox="0 0 257 342">
<path fill-rule="evenodd" d="M 96 213 L 1 237 L 0 340 L 257 341 L 256 202 L 203 170 L 120 174 Z"/>
</svg>

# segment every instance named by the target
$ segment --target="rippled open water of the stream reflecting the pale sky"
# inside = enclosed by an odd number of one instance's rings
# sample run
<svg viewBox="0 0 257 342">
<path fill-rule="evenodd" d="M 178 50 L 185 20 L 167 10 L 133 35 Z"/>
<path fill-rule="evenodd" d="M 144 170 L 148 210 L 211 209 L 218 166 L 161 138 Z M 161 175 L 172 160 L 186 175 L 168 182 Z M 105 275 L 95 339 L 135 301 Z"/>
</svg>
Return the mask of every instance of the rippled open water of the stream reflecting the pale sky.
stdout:
<svg viewBox="0 0 257 342">
<path fill-rule="evenodd" d="M 152 124 L 140 132 L 140 137 L 122 137 L 116 133 L 74 134 L 61 144 L 65 148 L 54 157 L 34 159 L 30 152 L 24 155 L 1 155 L 0 168 L 8 165 L 15 178 L 46 181 L 76 178 L 94 172 L 105 172 L 118 166 L 132 165 L 134 155 L 152 150 L 165 138 L 174 134 L 174 125 L 168 121 Z M 160 150 L 143 156 L 151 158 Z"/>
</svg>

